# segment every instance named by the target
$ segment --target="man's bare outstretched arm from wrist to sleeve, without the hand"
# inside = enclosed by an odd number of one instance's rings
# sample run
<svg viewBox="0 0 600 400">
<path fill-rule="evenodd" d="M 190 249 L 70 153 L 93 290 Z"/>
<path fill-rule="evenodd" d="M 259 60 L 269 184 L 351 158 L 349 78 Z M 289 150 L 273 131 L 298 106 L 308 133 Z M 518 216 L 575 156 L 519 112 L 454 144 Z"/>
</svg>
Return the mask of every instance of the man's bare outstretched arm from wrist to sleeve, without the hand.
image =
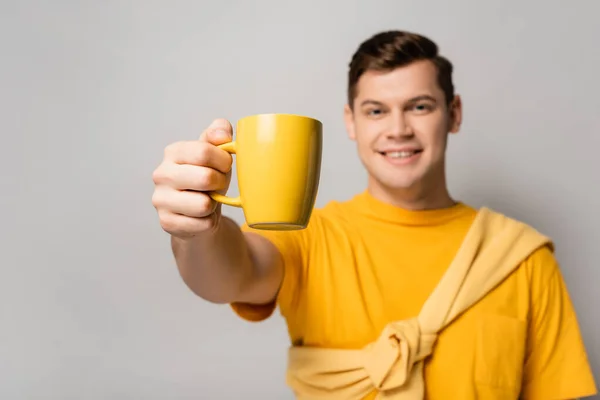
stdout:
<svg viewBox="0 0 600 400">
<path fill-rule="evenodd" d="M 214 303 L 271 302 L 283 278 L 279 251 L 265 237 L 242 232 L 222 217 L 190 239 L 172 237 L 179 273 L 198 296 Z"/>
</svg>

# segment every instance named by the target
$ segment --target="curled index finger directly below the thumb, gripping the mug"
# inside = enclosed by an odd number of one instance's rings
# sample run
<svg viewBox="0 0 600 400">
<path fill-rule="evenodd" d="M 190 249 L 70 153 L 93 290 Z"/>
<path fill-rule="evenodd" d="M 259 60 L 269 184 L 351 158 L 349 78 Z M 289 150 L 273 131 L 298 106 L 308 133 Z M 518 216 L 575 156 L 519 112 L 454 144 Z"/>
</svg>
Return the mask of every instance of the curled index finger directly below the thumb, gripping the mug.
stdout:
<svg viewBox="0 0 600 400">
<path fill-rule="evenodd" d="M 167 146 L 165 158 L 175 164 L 214 168 L 223 173 L 231 170 L 231 154 L 211 144 L 197 140 Z"/>
</svg>

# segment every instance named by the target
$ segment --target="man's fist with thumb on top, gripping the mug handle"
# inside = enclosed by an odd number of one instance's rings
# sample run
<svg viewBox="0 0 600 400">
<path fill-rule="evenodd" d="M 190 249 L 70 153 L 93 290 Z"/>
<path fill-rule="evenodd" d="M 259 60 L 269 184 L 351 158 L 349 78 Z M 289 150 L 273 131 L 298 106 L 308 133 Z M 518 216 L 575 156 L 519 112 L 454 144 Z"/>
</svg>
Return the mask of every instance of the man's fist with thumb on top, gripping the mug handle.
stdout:
<svg viewBox="0 0 600 400">
<path fill-rule="evenodd" d="M 216 119 L 199 140 L 165 148 L 164 159 L 152 175 L 152 204 L 166 232 L 190 238 L 217 227 L 221 206 L 207 192 L 227 192 L 233 159 L 217 145 L 231 139 L 229 121 Z"/>
</svg>

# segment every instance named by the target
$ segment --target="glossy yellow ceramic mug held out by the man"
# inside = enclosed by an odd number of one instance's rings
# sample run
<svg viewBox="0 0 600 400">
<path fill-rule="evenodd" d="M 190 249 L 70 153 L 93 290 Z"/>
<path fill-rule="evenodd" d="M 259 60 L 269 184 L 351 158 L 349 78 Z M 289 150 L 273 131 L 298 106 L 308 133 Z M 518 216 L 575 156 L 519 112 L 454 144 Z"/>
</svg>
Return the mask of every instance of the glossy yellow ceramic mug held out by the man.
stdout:
<svg viewBox="0 0 600 400">
<path fill-rule="evenodd" d="M 237 123 L 236 139 L 219 146 L 236 155 L 240 195 L 209 195 L 219 203 L 241 207 L 251 228 L 304 229 L 317 197 L 322 141 L 323 125 L 310 117 L 244 117 Z"/>
</svg>

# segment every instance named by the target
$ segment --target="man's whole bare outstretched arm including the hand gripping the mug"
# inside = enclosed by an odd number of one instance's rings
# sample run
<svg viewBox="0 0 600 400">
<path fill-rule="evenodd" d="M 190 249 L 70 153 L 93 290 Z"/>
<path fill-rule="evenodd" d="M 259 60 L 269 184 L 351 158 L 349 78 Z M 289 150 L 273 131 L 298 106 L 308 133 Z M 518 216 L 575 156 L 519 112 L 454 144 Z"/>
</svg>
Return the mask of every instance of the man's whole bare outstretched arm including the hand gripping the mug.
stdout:
<svg viewBox="0 0 600 400">
<path fill-rule="evenodd" d="M 194 293 L 214 303 L 270 302 L 282 282 L 279 251 L 267 238 L 242 233 L 209 196 L 229 187 L 232 158 L 218 145 L 231 137 L 231 124 L 217 119 L 199 140 L 167 146 L 153 173 L 152 203 Z"/>
</svg>

